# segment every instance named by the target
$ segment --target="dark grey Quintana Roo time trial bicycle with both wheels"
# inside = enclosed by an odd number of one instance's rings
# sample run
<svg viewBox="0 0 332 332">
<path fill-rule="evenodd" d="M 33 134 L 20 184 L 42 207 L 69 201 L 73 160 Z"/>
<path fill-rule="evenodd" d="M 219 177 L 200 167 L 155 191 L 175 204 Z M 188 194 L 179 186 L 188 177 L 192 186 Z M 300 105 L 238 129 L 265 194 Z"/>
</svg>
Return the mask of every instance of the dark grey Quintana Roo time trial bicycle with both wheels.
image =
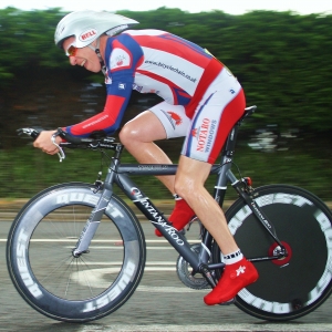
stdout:
<svg viewBox="0 0 332 332">
<path fill-rule="evenodd" d="M 211 168 L 217 175 L 214 197 L 220 207 L 228 183 L 239 196 L 226 218 L 260 276 L 232 303 L 259 319 L 292 320 L 315 310 L 332 291 L 332 215 L 320 198 L 304 189 L 288 185 L 253 189 L 250 178 L 234 175 L 237 133 L 255 110 L 246 108 L 228 136 L 220 164 Z M 31 128 L 21 132 L 38 135 Z M 185 234 L 174 229 L 131 179 L 131 175 L 173 175 L 177 165 L 121 164 L 124 147 L 112 137 L 76 138 L 63 146 L 111 149 L 114 155 L 104 181 L 50 187 L 31 198 L 15 217 L 8 236 L 8 269 L 32 308 L 55 320 L 86 322 L 114 312 L 134 293 L 145 267 L 145 238 L 137 217 L 113 193 L 113 185 L 178 251 L 176 267 L 184 284 L 215 287 L 225 264 L 209 232 L 201 226 L 201 242 L 189 245 Z M 60 157 L 64 158 L 62 149 Z M 102 258 L 111 266 L 106 272 Z"/>
</svg>

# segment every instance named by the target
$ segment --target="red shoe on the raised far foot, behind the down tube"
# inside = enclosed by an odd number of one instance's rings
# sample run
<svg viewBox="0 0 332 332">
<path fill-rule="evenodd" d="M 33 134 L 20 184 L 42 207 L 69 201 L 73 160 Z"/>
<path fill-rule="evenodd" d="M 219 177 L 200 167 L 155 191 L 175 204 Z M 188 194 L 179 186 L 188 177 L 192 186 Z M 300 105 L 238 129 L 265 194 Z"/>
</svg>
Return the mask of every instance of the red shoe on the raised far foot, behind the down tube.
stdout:
<svg viewBox="0 0 332 332">
<path fill-rule="evenodd" d="M 169 216 L 168 220 L 177 230 L 181 230 L 195 217 L 194 210 L 188 206 L 185 199 L 175 201 L 175 208 Z M 155 235 L 162 237 L 163 235 L 158 229 L 155 229 Z"/>
</svg>

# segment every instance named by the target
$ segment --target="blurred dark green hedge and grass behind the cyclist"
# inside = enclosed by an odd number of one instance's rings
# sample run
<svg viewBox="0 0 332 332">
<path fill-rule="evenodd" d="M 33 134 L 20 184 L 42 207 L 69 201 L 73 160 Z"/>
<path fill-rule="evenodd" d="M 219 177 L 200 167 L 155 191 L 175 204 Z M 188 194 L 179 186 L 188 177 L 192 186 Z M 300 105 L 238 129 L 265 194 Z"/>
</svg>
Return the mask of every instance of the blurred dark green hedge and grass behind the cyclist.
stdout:
<svg viewBox="0 0 332 332">
<path fill-rule="evenodd" d="M 247 105 L 258 110 L 241 126 L 235 163 L 255 187 L 284 183 L 332 200 L 332 15 L 168 8 L 117 13 L 139 21 L 136 29 L 167 30 L 198 43 L 238 77 Z M 60 164 L 15 132 L 71 125 L 103 110 L 103 75 L 72 68 L 54 45 L 64 14 L 58 8 L 0 10 L 0 198 L 28 198 L 63 181 L 93 183 L 105 172 L 100 153 L 68 151 Z M 158 101 L 134 92 L 123 123 Z M 158 144 L 177 163 L 181 142 Z M 127 153 L 124 160 L 134 162 Z M 153 177 L 137 183 L 151 197 L 170 198 Z"/>
</svg>

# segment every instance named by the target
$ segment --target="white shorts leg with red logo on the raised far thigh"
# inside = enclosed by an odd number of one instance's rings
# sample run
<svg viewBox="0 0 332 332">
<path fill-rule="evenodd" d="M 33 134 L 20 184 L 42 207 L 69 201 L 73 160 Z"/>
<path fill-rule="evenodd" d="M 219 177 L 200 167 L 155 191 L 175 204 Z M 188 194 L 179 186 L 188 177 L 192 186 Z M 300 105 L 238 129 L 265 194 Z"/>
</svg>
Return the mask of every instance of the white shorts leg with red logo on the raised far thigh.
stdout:
<svg viewBox="0 0 332 332">
<path fill-rule="evenodd" d="M 185 107 L 162 102 L 149 110 L 155 114 L 166 132 L 167 138 L 186 136 L 190 126 L 190 118 L 186 115 Z"/>
</svg>

